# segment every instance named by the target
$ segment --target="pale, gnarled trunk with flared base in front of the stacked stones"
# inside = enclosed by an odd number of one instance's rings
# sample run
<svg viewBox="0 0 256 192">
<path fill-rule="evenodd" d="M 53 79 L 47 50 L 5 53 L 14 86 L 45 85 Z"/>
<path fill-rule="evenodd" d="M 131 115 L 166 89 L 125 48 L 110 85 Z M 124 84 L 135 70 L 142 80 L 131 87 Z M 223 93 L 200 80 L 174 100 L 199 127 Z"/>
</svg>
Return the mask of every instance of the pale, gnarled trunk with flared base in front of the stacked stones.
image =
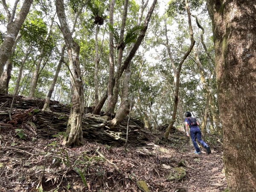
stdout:
<svg viewBox="0 0 256 192">
<path fill-rule="evenodd" d="M 72 106 L 67 123 L 67 137 L 64 137 L 63 145 L 82 145 L 82 118 L 84 115 L 84 88 L 79 65 L 79 44 L 72 38 L 72 33 L 67 24 L 63 0 L 56 0 L 56 11 L 61 24 L 61 32 L 67 46 L 69 57 L 70 79 L 72 84 Z"/>
</svg>

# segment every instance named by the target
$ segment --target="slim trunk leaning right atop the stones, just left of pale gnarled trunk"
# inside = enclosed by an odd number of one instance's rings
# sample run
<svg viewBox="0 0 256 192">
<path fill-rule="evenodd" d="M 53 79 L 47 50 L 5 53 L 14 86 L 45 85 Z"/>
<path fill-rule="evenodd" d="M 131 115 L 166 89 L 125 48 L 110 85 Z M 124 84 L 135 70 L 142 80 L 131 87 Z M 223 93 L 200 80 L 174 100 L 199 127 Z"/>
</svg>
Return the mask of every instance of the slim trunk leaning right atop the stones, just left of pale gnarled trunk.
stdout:
<svg viewBox="0 0 256 192">
<path fill-rule="evenodd" d="M 61 58 L 60 58 L 60 61 L 58 63 L 58 66 L 56 68 L 56 72 L 55 72 L 55 75 L 54 75 L 54 78 L 52 80 L 52 84 L 50 86 L 50 89 L 49 89 L 49 92 L 47 94 L 47 98 L 45 100 L 45 103 L 44 103 L 44 108 L 42 109 L 42 111 L 50 111 L 50 108 L 49 108 L 49 104 L 50 104 L 50 100 L 51 100 L 51 97 L 52 97 L 52 93 L 53 93 L 53 90 L 54 90 L 54 87 L 55 87 L 55 84 L 57 82 L 57 79 L 58 79 L 58 74 L 61 70 L 61 65 L 62 65 L 62 62 L 64 61 L 64 51 L 66 49 L 66 46 L 64 45 L 61 49 Z"/>
</svg>

